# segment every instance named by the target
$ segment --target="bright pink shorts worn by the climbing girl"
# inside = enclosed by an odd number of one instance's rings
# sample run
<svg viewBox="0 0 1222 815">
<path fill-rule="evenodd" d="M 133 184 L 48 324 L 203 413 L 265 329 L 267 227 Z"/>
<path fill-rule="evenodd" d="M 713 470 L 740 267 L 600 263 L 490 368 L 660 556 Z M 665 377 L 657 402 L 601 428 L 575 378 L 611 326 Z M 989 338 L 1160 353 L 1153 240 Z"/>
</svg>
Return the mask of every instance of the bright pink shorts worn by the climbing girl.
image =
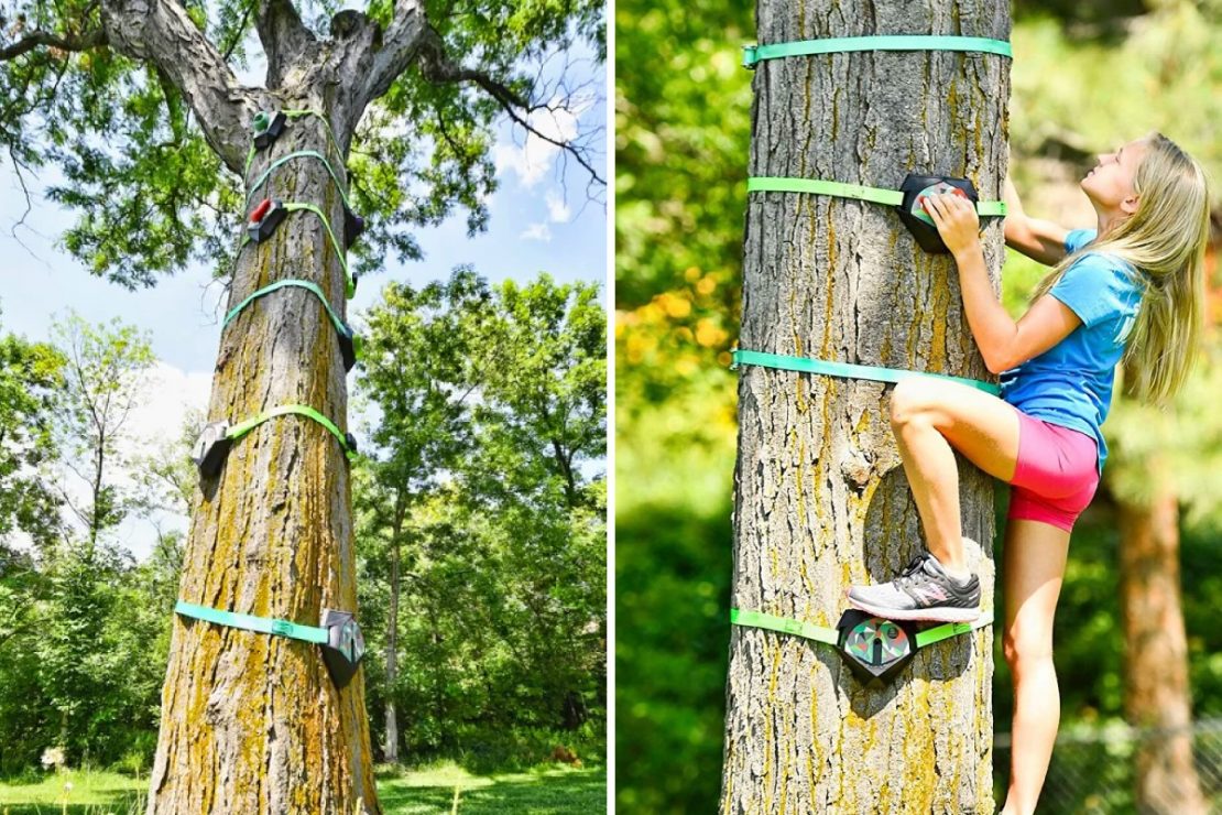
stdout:
<svg viewBox="0 0 1222 815">
<path fill-rule="evenodd" d="M 1073 529 L 1099 486 L 1099 450 L 1078 430 L 1018 413 L 1018 466 L 1011 479 L 1008 518 Z"/>
</svg>

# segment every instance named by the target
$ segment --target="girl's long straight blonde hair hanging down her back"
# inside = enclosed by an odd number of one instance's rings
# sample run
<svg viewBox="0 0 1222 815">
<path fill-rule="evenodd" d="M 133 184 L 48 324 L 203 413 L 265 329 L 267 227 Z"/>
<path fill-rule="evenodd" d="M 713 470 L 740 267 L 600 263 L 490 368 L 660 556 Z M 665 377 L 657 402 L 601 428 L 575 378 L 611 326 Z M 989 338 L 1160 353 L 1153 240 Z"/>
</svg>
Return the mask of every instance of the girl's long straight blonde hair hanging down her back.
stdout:
<svg viewBox="0 0 1222 815">
<path fill-rule="evenodd" d="M 1125 390 L 1161 406 L 1183 387 L 1200 351 L 1210 198 L 1205 170 L 1174 142 L 1152 133 L 1145 144 L 1133 180 L 1136 211 L 1058 263 L 1031 303 L 1088 252 L 1128 261 L 1143 294 L 1122 359 Z"/>
</svg>

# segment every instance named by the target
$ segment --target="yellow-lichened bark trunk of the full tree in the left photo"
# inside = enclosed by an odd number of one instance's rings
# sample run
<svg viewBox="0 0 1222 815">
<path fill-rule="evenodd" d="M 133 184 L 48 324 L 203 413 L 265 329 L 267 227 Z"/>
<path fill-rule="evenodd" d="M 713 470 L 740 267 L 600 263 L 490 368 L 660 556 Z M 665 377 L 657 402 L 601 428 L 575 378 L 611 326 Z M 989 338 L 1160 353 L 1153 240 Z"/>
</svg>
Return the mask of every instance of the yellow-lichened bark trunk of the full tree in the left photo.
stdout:
<svg viewBox="0 0 1222 815">
<path fill-rule="evenodd" d="M 334 114 L 318 98 L 282 106 Z M 346 144 L 346 128 L 336 127 Z M 345 177 L 343 156 L 307 117 L 257 155 L 247 183 L 299 149 L 323 153 Z M 279 167 L 247 211 L 265 196 L 315 203 L 342 236 L 342 200 L 320 161 Z M 242 249 L 230 305 L 290 277 L 315 281 L 342 314 L 343 272 L 308 211 Z M 299 288 L 255 301 L 225 329 L 209 417 L 240 422 L 285 403 L 347 424 L 335 327 Z M 357 611 L 348 464 L 323 426 L 271 419 L 235 442 L 220 475 L 200 486 L 182 600 L 310 626 L 323 609 Z M 149 813 L 380 813 L 363 672 L 337 690 L 315 645 L 177 616 L 172 638 Z"/>
</svg>

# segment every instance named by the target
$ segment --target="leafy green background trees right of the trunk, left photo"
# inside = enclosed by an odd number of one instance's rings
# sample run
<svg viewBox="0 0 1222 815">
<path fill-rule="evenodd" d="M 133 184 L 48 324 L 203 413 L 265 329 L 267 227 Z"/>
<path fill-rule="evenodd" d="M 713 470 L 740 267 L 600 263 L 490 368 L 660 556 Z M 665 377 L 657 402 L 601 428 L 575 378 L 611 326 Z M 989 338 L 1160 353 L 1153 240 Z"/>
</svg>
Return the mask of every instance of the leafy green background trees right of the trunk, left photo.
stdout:
<svg viewBox="0 0 1222 815">
<path fill-rule="evenodd" d="M 362 381 L 379 447 L 358 489 L 363 590 L 397 607 L 400 626 L 391 615 L 370 632 L 386 646 L 373 693 L 402 715 L 413 760 L 459 753 L 488 769 L 595 747 L 606 641 L 606 505 L 590 472 L 606 450 L 598 288 L 545 275 L 490 287 L 459 269 L 419 292 L 387 287 L 369 324 Z M 404 360 L 422 356 L 408 374 Z"/>
</svg>

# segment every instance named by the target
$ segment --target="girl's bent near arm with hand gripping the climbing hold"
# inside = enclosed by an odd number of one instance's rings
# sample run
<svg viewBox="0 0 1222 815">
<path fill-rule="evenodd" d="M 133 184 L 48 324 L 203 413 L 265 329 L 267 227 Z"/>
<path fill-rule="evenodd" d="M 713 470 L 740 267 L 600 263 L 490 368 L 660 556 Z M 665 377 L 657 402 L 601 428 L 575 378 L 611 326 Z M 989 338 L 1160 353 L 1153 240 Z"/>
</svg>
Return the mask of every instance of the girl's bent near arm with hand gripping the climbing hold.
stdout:
<svg viewBox="0 0 1222 815">
<path fill-rule="evenodd" d="M 975 206 L 959 196 L 930 196 L 925 202 L 942 241 L 954 255 L 963 310 L 990 373 L 1000 374 L 1037 357 L 1081 325 L 1073 309 L 1051 294 L 1037 299 L 1017 323 L 1011 319 L 989 282 Z"/>
</svg>

